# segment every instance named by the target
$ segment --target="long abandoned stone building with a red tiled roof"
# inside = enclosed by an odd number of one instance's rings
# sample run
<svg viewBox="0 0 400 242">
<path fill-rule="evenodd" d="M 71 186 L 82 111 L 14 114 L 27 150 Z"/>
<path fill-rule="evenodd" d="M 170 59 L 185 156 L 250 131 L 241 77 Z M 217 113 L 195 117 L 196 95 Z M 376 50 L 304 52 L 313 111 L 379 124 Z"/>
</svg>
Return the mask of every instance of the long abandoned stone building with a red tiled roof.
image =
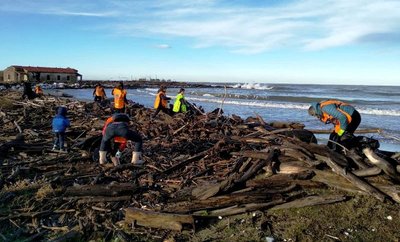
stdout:
<svg viewBox="0 0 400 242">
<path fill-rule="evenodd" d="M 82 75 L 73 68 L 11 65 L 3 70 L 3 82 L 78 82 Z M 78 79 L 79 78 L 79 79 Z"/>
</svg>

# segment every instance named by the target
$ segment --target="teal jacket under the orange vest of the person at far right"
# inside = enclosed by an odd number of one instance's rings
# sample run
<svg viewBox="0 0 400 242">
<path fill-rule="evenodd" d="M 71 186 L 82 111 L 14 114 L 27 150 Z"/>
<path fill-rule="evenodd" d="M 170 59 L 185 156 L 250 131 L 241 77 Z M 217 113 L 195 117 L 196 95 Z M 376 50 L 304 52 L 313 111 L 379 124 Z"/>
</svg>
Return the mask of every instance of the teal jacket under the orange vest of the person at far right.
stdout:
<svg viewBox="0 0 400 242">
<path fill-rule="evenodd" d="M 347 117 L 342 112 L 340 112 L 339 110 L 336 109 L 335 104 L 324 105 L 321 109 L 319 102 L 313 101 L 313 102 L 311 102 L 311 106 L 314 108 L 316 115 L 323 116 L 323 113 L 322 113 L 322 111 L 323 111 L 323 112 L 331 115 L 332 117 L 337 118 L 340 122 L 341 129 L 343 129 L 344 131 L 347 129 L 347 124 L 348 124 Z M 350 115 L 350 116 L 354 112 L 354 107 L 349 106 L 349 105 L 340 105 L 340 109 L 343 112 L 348 113 L 348 115 Z"/>
</svg>

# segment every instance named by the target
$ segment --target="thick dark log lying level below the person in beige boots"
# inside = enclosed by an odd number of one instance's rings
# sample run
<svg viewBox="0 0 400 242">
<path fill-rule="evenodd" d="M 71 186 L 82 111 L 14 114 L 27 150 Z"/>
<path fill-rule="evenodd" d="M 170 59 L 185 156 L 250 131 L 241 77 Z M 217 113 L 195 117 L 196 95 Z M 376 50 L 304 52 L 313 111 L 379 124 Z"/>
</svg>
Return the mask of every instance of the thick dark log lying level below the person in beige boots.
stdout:
<svg viewBox="0 0 400 242">
<path fill-rule="evenodd" d="M 64 196 L 117 196 L 131 194 L 139 189 L 132 183 L 76 185 L 66 189 Z"/>
</svg>

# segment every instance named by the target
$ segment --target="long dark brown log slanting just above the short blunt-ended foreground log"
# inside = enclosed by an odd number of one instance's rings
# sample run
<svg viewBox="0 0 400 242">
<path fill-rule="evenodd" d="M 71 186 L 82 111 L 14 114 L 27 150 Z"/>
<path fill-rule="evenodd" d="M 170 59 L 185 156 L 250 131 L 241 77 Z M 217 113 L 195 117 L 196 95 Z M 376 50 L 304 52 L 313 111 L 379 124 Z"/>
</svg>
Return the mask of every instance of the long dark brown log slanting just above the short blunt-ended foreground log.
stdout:
<svg viewBox="0 0 400 242">
<path fill-rule="evenodd" d="M 168 212 L 191 212 L 208 208 L 231 206 L 251 202 L 265 202 L 282 198 L 277 193 L 264 192 L 238 192 L 220 196 L 209 197 L 204 200 L 193 200 L 191 202 L 168 203 L 164 208 Z"/>
</svg>

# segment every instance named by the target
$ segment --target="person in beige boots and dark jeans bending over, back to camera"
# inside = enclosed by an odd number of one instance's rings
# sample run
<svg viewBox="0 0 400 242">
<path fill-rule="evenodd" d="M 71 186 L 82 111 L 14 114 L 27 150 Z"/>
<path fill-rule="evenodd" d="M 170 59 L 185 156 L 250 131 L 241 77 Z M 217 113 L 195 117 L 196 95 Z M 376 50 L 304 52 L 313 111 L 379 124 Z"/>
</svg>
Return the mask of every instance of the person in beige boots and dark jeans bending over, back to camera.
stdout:
<svg viewBox="0 0 400 242">
<path fill-rule="evenodd" d="M 121 143 L 117 153 L 115 155 L 111 155 L 111 160 L 114 165 L 119 164 L 119 157 L 127 140 L 134 142 L 134 151 L 132 152 L 131 162 L 133 164 L 144 163 L 144 161 L 141 160 L 141 146 L 143 144 L 143 139 L 140 134 L 129 128 L 129 116 L 127 114 L 118 113 L 109 117 L 105 122 L 102 135 L 103 137 L 101 139 L 99 151 L 100 164 L 107 163 L 107 147 L 111 139 L 113 139 L 114 142 Z"/>
</svg>

